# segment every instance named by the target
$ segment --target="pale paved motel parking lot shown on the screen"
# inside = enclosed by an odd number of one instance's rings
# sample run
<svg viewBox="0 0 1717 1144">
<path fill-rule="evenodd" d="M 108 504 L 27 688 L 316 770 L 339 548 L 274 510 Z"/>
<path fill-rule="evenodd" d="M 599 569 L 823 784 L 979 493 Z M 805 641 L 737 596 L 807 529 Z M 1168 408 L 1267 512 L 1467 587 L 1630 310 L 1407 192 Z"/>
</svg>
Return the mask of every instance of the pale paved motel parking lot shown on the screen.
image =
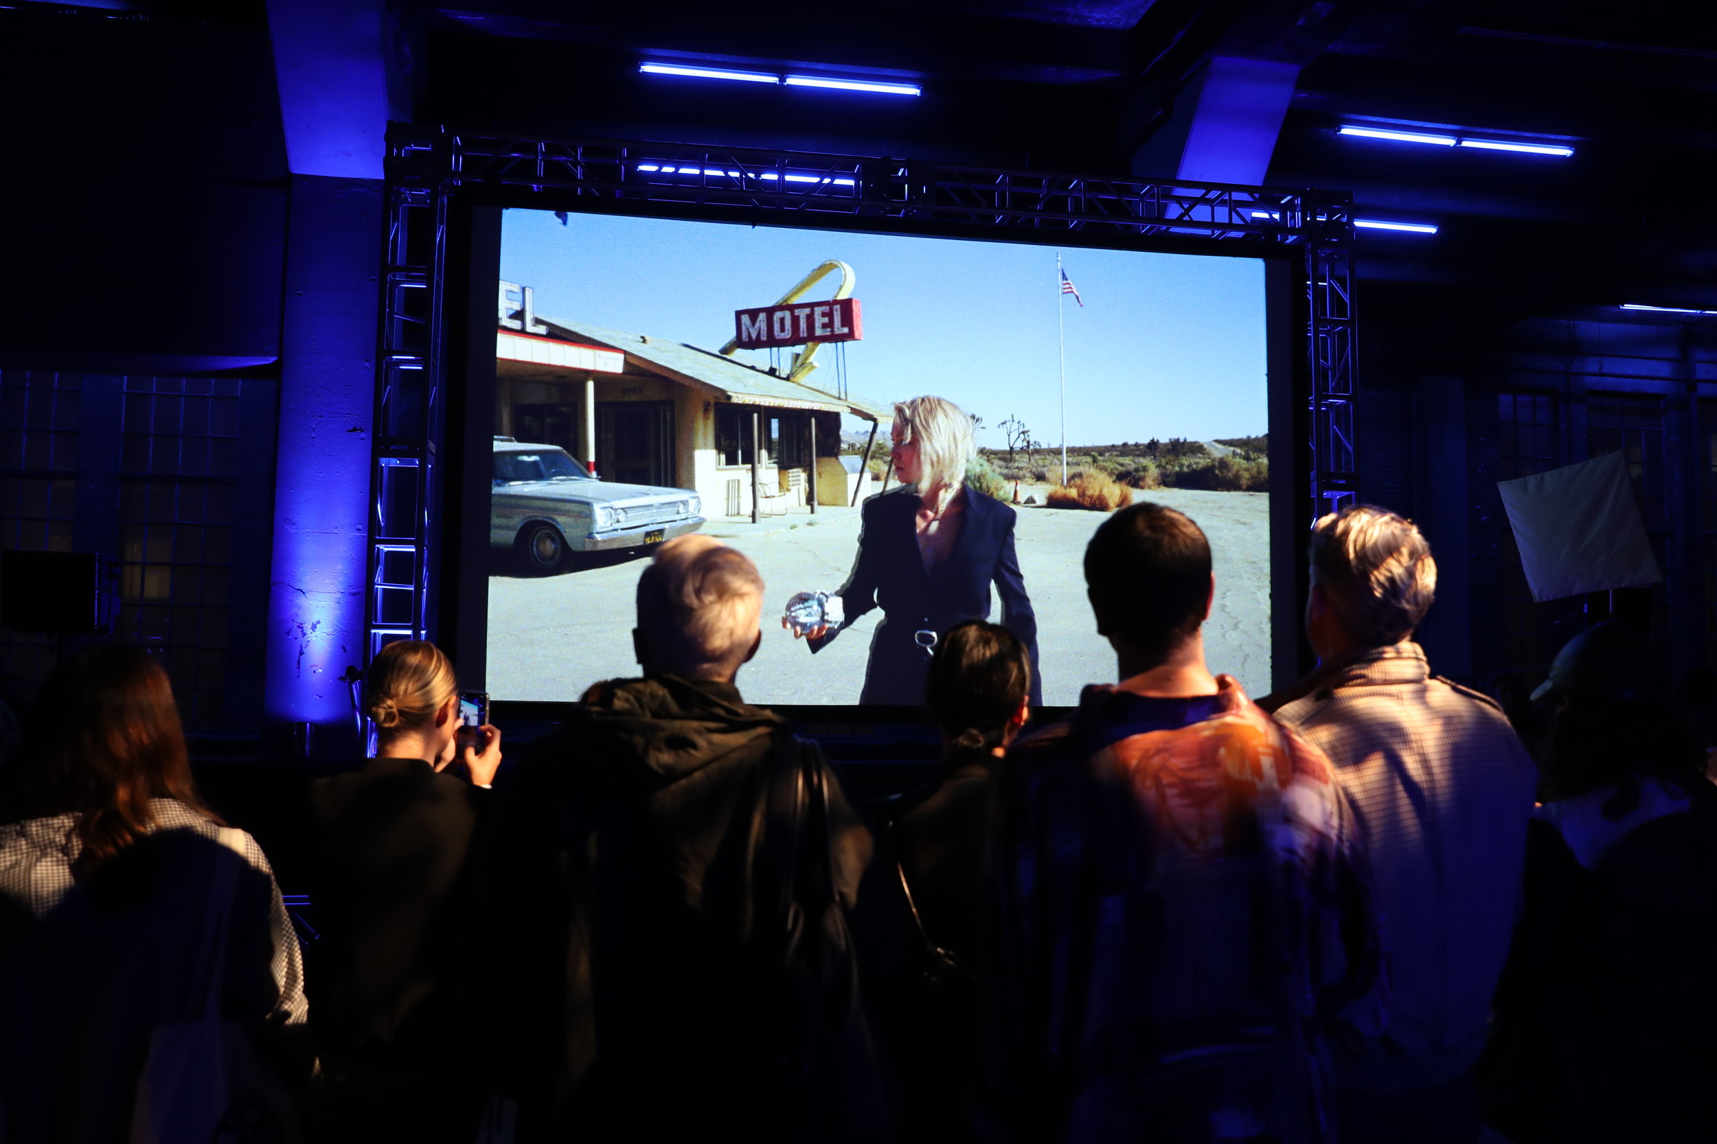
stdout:
<svg viewBox="0 0 1717 1144">
<path fill-rule="evenodd" d="M 1216 609 L 1205 628 L 1214 671 L 1252 695 L 1269 691 L 1269 499 L 1259 492 L 1159 489 L 1154 501 L 1181 509 L 1210 537 Z M 857 515 L 790 518 L 793 527 L 733 537 L 767 583 L 757 659 L 740 672 L 755 703 L 857 703 L 871 612 L 816 657 L 776 626 L 786 599 L 833 590 L 846 578 Z M 1044 701 L 1073 703 L 1082 684 L 1114 677 L 1114 655 L 1085 604 L 1080 559 L 1101 516 L 1080 509 L 1022 508 L 1020 566 L 1037 611 Z M 711 532 L 721 532 L 719 525 Z M 558 576 L 489 578 L 488 688 L 503 700 L 575 700 L 598 679 L 637 674 L 632 659 L 634 587 L 644 557 L 606 557 Z"/>
</svg>

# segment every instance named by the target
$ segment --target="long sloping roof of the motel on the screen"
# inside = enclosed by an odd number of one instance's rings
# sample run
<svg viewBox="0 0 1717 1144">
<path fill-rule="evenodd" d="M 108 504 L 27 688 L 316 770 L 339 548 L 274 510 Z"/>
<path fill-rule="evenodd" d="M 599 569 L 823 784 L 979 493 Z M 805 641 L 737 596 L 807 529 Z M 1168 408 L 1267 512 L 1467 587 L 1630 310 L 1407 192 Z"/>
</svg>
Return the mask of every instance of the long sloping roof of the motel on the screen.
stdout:
<svg viewBox="0 0 1717 1144">
<path fill-rule="evenodd" d="M 618 350 L 625 353 L 627 362 L 637 370 L 690 386 L 714 400 L 786 410 L 852 413 L 869 422 L 889 422 L 895 418 L 893 406 L 865 401 L 852 394 L 843 398 L 682 341 L 555 317 L 537 316 L 537 321 L 560 338 L 599 350 Z M 541 370 L 544 367 L 534 365 L 534 369 Z M 591 370 L 556 369 L 555 372 L 584 377 Z"/>
</svg>

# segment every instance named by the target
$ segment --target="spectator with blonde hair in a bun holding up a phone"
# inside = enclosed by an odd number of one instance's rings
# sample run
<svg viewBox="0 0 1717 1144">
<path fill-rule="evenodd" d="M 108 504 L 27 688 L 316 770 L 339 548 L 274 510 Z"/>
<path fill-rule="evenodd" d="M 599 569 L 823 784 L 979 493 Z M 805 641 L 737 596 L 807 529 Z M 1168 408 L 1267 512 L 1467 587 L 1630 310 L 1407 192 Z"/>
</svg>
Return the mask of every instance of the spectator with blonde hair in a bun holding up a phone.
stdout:
<svg viewBox="0 0 1717 1144">
<path fill-rule="evenodd" d="M 455 954 L 501 732 L 460 722 L 453 664 L 424 640 L 371 660 L 364 713 L 376 758 L 311 784 L 309 799 L 321 1139 L 464 1144 L 488 1089 L 470 1063 L 476 1029 Z"/>
</svg>

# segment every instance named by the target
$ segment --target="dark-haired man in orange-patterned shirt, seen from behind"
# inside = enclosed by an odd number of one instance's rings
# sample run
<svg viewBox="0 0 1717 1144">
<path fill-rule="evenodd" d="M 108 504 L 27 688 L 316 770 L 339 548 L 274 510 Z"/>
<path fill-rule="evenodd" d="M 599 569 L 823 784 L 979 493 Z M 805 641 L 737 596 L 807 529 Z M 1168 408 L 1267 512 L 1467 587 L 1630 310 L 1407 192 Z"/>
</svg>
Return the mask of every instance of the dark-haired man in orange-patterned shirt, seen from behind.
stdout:
<svg viewBox="0 0 1717 1144">
<path fill-rule="evenodd" d="M 1329 763 L 1205 667 L 1192 520 L 1114 513 L 1085 581 L 1119 683 L 1008 755 L 986 1129 L 1327 1141 L 1322 1041 L 1377 969 Z"/>
</svg>

